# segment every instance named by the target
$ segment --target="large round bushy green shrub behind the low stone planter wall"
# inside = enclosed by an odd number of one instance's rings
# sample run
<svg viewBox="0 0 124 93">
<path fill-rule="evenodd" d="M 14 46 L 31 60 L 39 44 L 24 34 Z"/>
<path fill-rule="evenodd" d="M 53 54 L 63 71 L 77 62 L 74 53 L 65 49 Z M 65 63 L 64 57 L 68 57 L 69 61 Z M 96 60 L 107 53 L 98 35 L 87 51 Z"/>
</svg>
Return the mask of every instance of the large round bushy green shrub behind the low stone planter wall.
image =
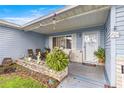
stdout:
<svg viewBox="0 0 124 93">
<path fill-rule="evenodd" d="M 62 71 L 69 64 L 68 56 L 59 48 L 54 48 L 47 57 L 46 64 L 53 70 Z"/>
</svg>

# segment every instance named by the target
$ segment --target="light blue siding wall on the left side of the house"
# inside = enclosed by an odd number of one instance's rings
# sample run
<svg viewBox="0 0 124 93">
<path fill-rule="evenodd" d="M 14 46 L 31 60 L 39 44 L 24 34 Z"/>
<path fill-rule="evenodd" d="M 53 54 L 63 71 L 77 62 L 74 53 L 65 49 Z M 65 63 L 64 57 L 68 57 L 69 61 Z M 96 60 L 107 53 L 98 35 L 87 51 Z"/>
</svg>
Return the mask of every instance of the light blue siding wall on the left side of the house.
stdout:
<svg viewBox="0 0 124 93">
<path fill-rule="evenodd" d="M 46 36 L 35 32 L 24 32 L 0 26 L 0 63 L 4 57 L 19 58 L 27 49 L 45 47 Z"/>
</svg>

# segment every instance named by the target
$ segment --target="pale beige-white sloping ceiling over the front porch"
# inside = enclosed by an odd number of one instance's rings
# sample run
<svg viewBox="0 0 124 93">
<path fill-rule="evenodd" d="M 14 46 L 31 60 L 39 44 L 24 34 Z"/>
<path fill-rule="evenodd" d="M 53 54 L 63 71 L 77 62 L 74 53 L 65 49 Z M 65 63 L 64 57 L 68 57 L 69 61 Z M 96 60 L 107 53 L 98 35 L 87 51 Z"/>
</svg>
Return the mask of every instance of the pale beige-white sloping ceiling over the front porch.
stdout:
<svg viewBox="0 0 124 93">
<path fill-rule="evenodd" d="M 84 11 L 85 10 L 85 11 Z M 86 11 L 87 10 L 87 11 Z M 33 23 L 24 28 L 43 34 L 69 31 L 105 24 L 109 6 L 78 6 L 75 9 L 57 15 L 57 23 L 52 24 L 52 17 Z"/>
</svg>

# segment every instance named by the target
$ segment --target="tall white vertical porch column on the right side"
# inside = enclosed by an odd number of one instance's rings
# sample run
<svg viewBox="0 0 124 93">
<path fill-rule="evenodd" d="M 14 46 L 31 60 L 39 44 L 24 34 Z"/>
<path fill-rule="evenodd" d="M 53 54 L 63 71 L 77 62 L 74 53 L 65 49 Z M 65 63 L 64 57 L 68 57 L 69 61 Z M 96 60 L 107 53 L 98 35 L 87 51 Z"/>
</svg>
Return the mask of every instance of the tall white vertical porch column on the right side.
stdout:
<svg viewBox="0 0 124 93">
<path fill-rule="evenodd" d="M 115 27 L 115 6 L 111 7 L 111 16 L 110 16 L 110 44 L 111 44 L 111 61 L 110 61 L 110 67 L 111 67 L 111 80 L 110 80 L 110 85 L 111 86 L 116 86 L 116 37 L 113 37 L 112 34 L 115 32 L 114 27 Z"/>
</svg>

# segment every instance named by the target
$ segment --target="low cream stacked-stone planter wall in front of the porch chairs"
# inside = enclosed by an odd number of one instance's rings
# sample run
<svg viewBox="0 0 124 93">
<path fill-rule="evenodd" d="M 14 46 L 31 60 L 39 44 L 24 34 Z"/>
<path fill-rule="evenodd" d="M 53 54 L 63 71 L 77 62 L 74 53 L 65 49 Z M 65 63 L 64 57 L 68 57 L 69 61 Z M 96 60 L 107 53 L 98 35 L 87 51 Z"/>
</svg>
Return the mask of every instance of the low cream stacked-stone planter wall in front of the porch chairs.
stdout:
<svg viewBox="0 0 124 93">
<path fill-rule="evenodd" d="M 68 68 L 63 71 L 57 72 L 50 69 L 46 64 L 38 64 L 36 62 L 24 62 L 23 60 L 17 60 L 16 63 L 30 70 L 42 73 L 44 75 L 48 75 L 52 78 L 57 79 L 58 81 L 62 81 L 68 75 Z"/>
</svg>

